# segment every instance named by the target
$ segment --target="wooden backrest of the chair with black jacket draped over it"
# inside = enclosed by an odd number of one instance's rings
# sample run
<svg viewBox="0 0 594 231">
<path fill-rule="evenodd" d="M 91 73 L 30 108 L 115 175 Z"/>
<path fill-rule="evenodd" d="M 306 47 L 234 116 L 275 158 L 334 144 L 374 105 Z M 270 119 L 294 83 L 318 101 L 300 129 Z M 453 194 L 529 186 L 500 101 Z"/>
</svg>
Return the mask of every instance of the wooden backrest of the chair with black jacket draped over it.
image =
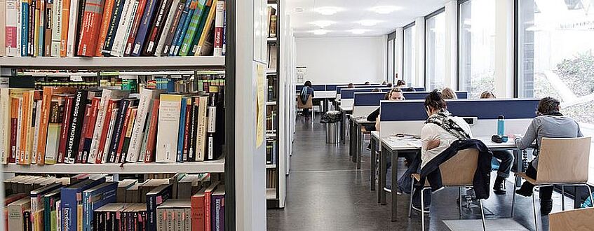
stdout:
<svg viewBox="0 0 594 231">
<path fill-rule="evenodd" d="M 477 149 L 459 151 L 439 166 L 443 186 L 471 186 L 477 166 Z"/>
</svg>

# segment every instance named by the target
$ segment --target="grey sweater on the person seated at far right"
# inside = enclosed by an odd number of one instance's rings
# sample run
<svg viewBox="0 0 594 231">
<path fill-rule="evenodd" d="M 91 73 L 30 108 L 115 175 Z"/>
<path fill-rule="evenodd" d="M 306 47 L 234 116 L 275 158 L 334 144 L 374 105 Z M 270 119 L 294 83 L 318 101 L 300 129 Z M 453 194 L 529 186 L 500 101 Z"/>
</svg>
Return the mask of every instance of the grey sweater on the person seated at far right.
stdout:
<svg viewBox="0 0 594 231">
<path fill-rule="evenodd" d="M 519 149 L 526 149 L 536 140 L 536 147 L 541 146 L 542 137 L 547 138 L 575 138 L 583 137 L 579 130 L 578 123 L 565 116 L 538 116 L 530 123 L 526 134 L 522 138 L 515 139 L 515 146 Z M 561 153 L 559 153 L 561 154 Z M 532 162 L 532 167 L 538 169 L 538 155 Z"/>
</svg>

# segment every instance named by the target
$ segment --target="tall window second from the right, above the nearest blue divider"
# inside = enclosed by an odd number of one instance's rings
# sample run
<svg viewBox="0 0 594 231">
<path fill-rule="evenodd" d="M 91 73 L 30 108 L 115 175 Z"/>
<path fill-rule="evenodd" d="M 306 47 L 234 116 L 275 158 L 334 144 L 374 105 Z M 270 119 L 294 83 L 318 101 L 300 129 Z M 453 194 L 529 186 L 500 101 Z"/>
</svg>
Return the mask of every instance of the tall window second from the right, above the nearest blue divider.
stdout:
<svg viewBox="0 0 594 231">
<path fill-rule="evenodd" d="M 495 1 L 459 1 L 459 90 L 495 89 Z"/>
</svg>

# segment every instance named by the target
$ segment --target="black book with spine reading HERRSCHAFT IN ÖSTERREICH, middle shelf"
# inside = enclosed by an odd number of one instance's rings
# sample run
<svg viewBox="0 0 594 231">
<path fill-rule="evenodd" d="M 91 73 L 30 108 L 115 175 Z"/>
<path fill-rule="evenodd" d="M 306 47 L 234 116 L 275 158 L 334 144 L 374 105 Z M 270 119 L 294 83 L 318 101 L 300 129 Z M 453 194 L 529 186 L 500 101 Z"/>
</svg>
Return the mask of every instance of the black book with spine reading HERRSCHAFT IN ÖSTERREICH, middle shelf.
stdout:
<svg viewBox="0 0 594 231">
<path fill-rule="evenodd" d="M 65 163 L 72 164 L 75 162 L 76 155 L 79 153 L 79 145 L 81 142 L 81 131 L 83 128 L 83 120 L 85 117 L 85 109 L 87 104 L 87 90 L 77 90 L 72 104 L 72 115 L 68 126 L 68 138 L 66 141 Z"/>
</svg>

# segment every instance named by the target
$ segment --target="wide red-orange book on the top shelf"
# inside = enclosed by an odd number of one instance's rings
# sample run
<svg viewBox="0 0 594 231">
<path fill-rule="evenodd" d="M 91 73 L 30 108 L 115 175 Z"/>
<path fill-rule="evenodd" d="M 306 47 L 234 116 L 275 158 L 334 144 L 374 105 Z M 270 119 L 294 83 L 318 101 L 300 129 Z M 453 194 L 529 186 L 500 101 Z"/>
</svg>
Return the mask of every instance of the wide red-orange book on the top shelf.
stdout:
<svg viewBox="0 0 594 231">
<path fill-rule="evenodd" d="M 97 39 L 101 30 L 104 0 L 86 0 L 79 48 L 79 56 L 93 57 L 97 52 Z"/>
</svg>

